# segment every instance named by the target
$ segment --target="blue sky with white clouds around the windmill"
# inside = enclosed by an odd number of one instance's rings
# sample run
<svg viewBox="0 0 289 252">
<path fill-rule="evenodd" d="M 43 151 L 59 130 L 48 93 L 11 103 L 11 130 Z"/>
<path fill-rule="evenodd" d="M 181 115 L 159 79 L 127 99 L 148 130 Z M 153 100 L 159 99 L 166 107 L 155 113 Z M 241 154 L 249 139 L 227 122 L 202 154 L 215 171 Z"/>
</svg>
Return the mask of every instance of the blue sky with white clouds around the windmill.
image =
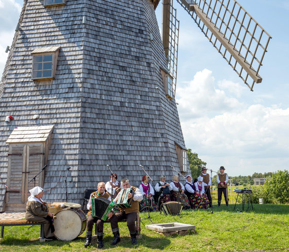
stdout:
<svg viewBox="0 0 289 252">
<path fill-rule="evenodd" d="M 254 92 L 174 0 L 180 21 L 176 102 L 186 147 L 209 169 L 223 165 L 232 176 L 288 170 L 289 1 L 238 2 L 272 36 Z M 22 4 L 0 0 L 1 74 Z"/>
</svg>

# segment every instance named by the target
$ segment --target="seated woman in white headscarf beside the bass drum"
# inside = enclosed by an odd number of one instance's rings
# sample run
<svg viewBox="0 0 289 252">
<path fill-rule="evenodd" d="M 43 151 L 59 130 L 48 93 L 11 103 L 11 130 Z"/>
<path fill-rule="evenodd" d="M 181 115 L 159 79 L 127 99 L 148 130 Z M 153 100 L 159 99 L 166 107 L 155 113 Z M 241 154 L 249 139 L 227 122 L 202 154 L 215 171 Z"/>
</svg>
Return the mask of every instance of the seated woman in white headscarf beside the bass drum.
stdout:
<svg viewBox="0 0 289 252">
<path fill-rule="evenodd" d="M 44 236 L 47 240 L 51 240 L 54 232 L 53 214 L 48 212 L 47 204 L 41 199 L 44 193 L 43 189 L 36 186 L 29 192 L 31 195 L 26 203 L 25 219 L 44 223 Z"/>
</svg>

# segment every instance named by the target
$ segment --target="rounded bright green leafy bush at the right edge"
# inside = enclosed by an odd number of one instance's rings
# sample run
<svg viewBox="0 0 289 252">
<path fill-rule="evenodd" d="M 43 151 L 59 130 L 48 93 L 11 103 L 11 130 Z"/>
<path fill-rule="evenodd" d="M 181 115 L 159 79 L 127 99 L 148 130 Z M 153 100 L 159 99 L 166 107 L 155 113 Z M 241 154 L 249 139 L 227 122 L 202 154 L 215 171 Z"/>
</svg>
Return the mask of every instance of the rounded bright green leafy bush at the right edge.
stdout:
<svg viewBox="0 0 289 252">
<path fill-rule="evenodd" d="M 272 179 L 267 179 L 265 188 L 273 199 L 272 203 L 289 203 L 289 173 L 285 171 L 277 171 L 273 173 Z"/>
</svg>

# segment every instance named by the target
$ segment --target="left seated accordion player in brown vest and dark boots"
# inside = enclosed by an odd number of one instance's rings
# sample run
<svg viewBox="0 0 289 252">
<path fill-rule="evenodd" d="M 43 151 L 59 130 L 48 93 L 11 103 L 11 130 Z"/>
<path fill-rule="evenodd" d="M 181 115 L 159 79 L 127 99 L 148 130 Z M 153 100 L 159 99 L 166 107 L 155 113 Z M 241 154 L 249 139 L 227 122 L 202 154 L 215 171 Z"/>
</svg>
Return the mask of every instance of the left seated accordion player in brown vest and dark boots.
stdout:
<svg viewBox="0 0 289 252">
<path fill-rule="evenodd" d="M 92 229 L 93 229 L 93 223 L 96 222 L 96 228 L 97 228 L 97 242 L 98 247 L 103 247 L 103 221 L 100 220 L 97 217 L 92 217 L 92 211 L 91 211 L 91 199 L 92 198 L 106 198 L 111 200 L 110 195 L 107 192 L 104 192 L 105 184 L 104 182 L 99 182 L 97 184 L 97 191 L 90 194 L 89 201 L 87 203 L 87 209 L 89 212 L 87 213 L 87 223 L 86 223 L 86 241 L 84 243 L 84 246 L 87 247 L 91 243 L 92 238 Z M 109 218 L 112 217 L 113 214 L 109 214 Z"/>
</svg>

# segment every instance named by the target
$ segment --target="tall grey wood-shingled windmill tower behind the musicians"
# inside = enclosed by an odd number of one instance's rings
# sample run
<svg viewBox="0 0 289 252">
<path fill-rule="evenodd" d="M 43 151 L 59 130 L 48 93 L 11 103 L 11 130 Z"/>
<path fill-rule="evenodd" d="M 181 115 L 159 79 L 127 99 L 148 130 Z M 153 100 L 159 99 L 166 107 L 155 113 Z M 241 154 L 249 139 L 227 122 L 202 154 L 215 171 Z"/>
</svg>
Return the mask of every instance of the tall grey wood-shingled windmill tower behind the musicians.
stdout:
<svg viewBox="0 0 289 252">
<path fill-rule="evenodd" d="M 171 166 L 190 173 L 174 100 L 178 22 L 169 7 L 174 31 L 162 41 L 158 4 L 24 1 L 0 83 L 0 118 L 14 117 L 0 121 L 0 211 L 23 208 L 34 183 L 63 202 L 67 174 L 68 201 L 82 203 L 107 165 L 135 186 L 139 165 L 157 181 Z"/>
</svg>

